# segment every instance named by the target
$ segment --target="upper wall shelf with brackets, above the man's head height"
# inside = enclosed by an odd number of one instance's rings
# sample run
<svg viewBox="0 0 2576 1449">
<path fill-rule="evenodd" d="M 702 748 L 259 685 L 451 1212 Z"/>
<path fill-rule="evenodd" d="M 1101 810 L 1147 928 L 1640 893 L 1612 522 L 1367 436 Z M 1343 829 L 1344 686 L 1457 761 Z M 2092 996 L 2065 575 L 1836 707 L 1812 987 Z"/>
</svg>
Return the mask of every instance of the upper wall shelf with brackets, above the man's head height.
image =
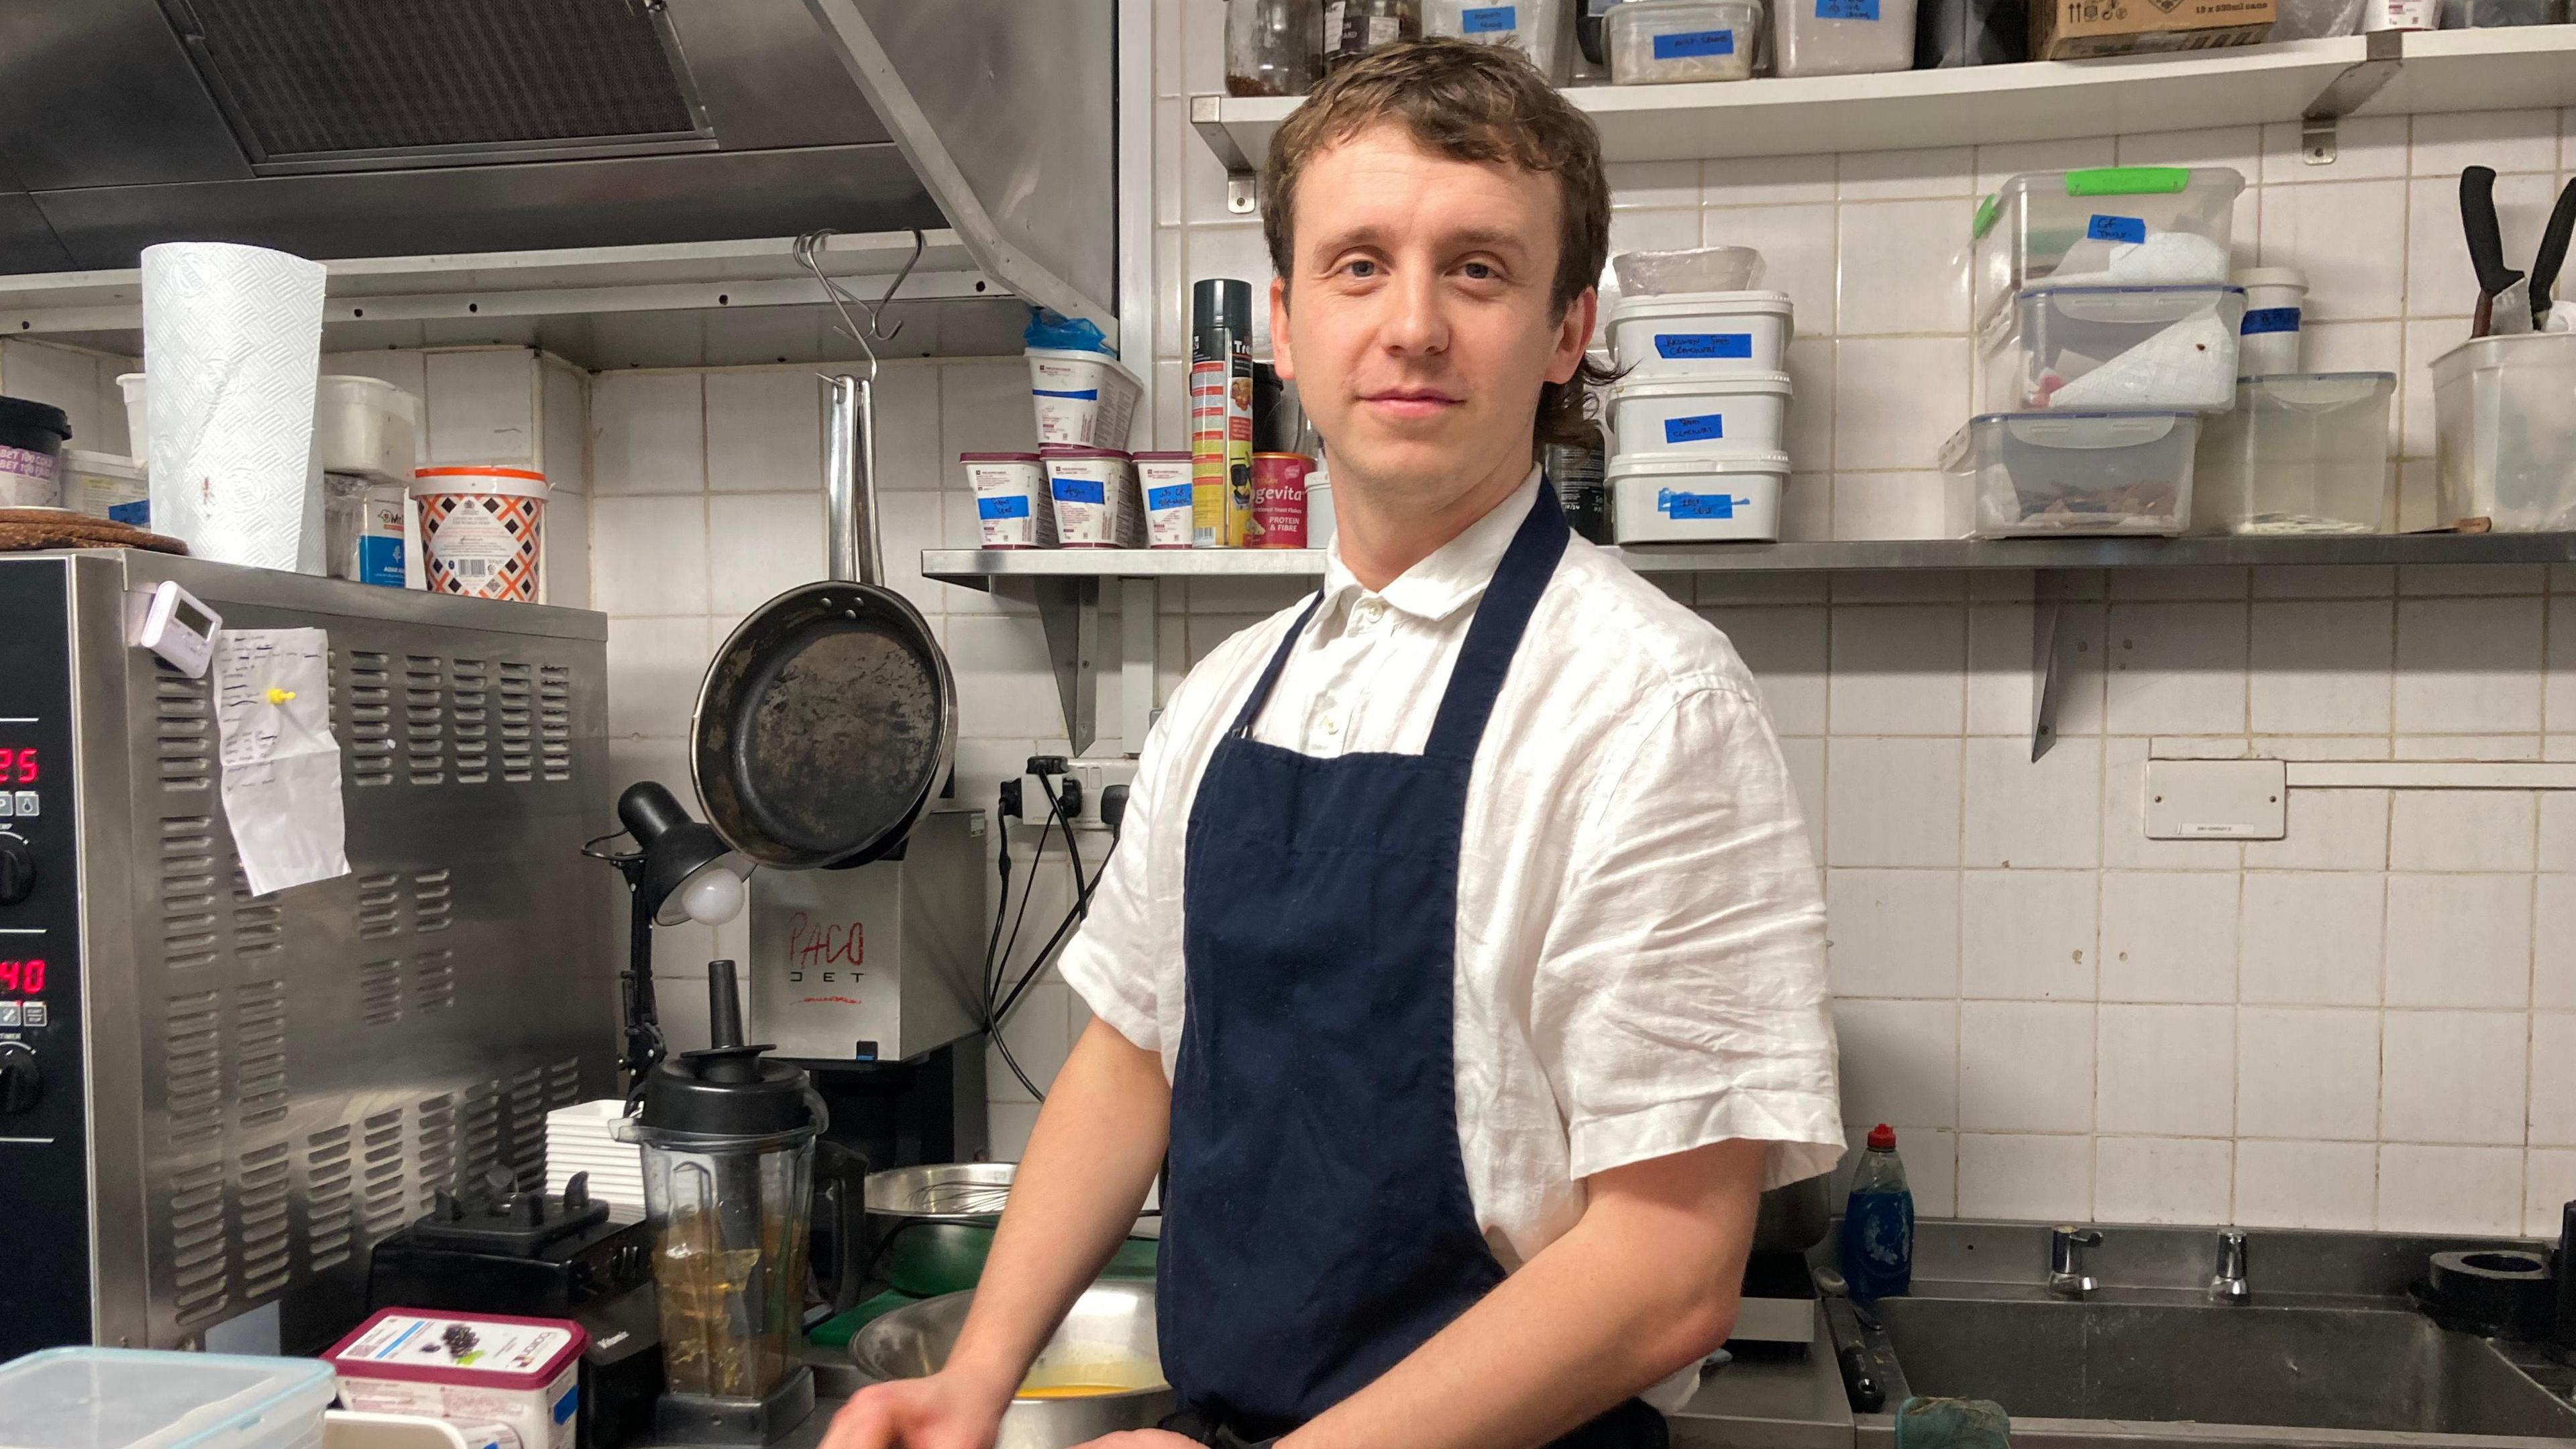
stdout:
<svg viewBox="0 0 2576 1449">
<path fill-rule="evenodd" d="M 1888 75 L 1582 85 L 1566 98 L 1592 116 L 1613 162 L 2045 142 L 2262 121 L 2311 121 L 2311 160 L 2329 162 L 2336 116 L 2576 103 L 2576 26 L 2383 31 Z M 1229 173 L 1249 175 L 1296 106 L 1296 98 L 1193 95 L 1190 121 Z M 1236 209 L 1249 211 L 1249 188 L 1236 193 Z"/>
</svg>

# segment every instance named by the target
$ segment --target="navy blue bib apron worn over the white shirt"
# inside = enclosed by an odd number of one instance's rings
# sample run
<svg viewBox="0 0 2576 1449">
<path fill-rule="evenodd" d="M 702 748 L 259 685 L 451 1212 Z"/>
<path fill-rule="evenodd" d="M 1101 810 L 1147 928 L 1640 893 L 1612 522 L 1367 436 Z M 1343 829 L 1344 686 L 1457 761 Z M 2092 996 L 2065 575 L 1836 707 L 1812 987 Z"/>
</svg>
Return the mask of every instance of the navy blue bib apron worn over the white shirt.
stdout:
<svg viewBox="0 0 2576 1449">
<path fill-rule="evenodd" d="M 1422 755 L 1321 761 L 1252 737 L 1316 598 L 1198 781 L 1154 1297 L 1175 1428 L 1285 1434 L 1504 1276 L 1458 1155 L 1458 841 L 1476 745 L 1564 549 L 1540 485 Z M 1631 1400 L 1564 1444 L 1659 1446 L 1664 1418 Z"/>
</svg>

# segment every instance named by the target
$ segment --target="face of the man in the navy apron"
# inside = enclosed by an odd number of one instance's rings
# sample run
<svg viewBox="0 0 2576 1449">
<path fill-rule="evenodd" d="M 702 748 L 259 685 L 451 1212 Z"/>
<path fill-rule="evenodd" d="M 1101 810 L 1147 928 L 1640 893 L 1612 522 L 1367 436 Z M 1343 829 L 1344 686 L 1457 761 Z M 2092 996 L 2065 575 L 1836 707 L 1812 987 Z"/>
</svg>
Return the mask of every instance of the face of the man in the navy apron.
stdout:
<svg viewBox="0 0 2576 1449">
<path fill-rule="evenodd" d="M 1270 338 L 1337 480 L 1437 508 L 1528 469 L 1538 389 L 1592 335 L 1589 291 L 1548 307 L 1556 206 L 1556 178 L 1425 152 L 1396 124 L 1306 165 Z"/>
</svg>

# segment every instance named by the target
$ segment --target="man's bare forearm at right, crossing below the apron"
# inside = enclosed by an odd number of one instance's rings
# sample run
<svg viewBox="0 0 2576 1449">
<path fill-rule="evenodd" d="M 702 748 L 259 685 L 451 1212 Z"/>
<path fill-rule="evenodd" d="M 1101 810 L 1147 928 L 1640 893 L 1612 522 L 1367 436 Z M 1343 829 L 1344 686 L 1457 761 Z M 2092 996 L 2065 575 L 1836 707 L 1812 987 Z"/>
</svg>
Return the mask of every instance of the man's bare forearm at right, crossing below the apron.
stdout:
<svg viewBox="0 0 2576 1449">
<path fill-rule="evenodd" d="M 1708 1356 L 1734 1325 L 1762 1160 L 1718 1142 L 1592 1178 L 1571 1232 L 1283 1449 L 1548 1444 Z"/>
</svg>

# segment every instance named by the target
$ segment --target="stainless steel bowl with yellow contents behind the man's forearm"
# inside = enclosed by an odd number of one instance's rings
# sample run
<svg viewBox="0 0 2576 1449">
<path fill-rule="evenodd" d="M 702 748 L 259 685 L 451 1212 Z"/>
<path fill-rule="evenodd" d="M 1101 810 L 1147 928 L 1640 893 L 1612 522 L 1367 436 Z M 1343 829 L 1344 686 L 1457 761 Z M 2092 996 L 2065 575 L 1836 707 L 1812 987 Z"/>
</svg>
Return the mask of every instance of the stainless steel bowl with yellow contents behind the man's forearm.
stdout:
<svg viewBox="0 0 2576 1449">
<path fill-rule="evenodd" d="M 850 1361 L 868 1379 L 935 1374 L 956 1348 L 974 1292 L 899 1307 L 850 1338 Z M 1064 1328 L 1028 1369 L 1030 1385 L 1131 1385 L 1087 1397 L 1015 1397 L 1002 1410 L 994 1449 L 1072 1449 L 1121 1428 L 1151 1428 L 1172 1413 L 1154 1348 L 1154 1284 L 1097 1281 L 1074 1299 Z"/>
</svg>

